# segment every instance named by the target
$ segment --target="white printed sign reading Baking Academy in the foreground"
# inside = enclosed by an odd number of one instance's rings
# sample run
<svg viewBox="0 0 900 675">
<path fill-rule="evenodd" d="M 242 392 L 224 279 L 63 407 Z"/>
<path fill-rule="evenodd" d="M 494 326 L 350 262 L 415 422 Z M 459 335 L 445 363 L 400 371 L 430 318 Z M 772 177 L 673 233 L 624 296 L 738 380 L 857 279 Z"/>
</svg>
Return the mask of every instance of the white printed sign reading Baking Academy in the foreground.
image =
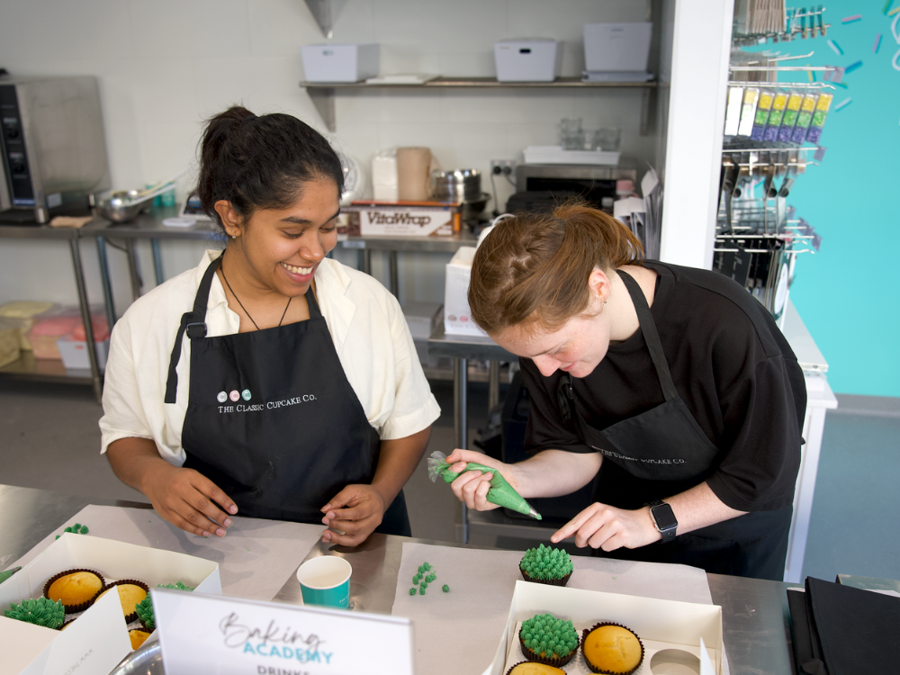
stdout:
<svg viewBox="0 0 900 675">
<path fill-rule="evenodd" d="M 412 675 L 410 619 L 153 589 L 166 672 Z"/>
</svg>

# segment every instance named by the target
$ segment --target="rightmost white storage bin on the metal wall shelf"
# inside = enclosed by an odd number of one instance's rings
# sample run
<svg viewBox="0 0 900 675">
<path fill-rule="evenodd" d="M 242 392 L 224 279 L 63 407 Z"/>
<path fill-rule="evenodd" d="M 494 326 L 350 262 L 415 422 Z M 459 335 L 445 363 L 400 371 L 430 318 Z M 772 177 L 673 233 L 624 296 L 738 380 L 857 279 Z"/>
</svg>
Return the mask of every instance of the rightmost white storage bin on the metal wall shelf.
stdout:
<svg viewBox="0 0 900 675">
<path fill-rule="evenodd" d="M 650 58 L 653 23 L 585 23 L 586 70 L 643 73 Z"/>
</svg>

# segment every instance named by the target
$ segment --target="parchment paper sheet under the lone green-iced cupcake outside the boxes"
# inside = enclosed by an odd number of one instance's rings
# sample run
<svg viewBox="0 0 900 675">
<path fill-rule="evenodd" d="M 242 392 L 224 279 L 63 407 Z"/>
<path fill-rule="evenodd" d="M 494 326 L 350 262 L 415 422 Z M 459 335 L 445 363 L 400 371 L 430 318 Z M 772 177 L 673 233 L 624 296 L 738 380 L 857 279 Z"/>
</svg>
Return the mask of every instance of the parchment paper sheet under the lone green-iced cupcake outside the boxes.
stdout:
<svg viewBox="0 0 900 675">
<path fill-rule="evenodd" d="M 413 621 L 416 672 L 478 675 L 491 664 L 522 579 L 521 559 L 520 551 L 403 545 L 392 614 Z M 425 562 L 437 579 L 424 596 L 418 587 L 410 596 L 412 578 Z M 572 556 L 572 563 L 567 588 L 712 604 L 707 573 L 694 567 L 584 556 Z M 441 591 L 444 584 L 449 593 Z"/>
</svg>

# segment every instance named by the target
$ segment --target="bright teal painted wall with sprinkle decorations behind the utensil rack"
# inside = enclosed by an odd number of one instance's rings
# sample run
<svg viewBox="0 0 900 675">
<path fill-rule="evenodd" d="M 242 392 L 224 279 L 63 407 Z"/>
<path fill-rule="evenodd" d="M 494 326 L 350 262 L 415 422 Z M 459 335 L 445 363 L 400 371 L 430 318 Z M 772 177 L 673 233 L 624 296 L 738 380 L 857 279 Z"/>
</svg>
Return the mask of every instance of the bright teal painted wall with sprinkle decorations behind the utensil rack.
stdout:
<svg viewBox="0 0 900 675">
<path fill-rule="evenodd" d="M 827 37 L 767 48 L 815 50 L 797 61 L 813 66 L 862 61 L 843 76 L 846 88 L 834 91 L 819 141 L 828 148 L 824 160 L 788 196 L 823 237 L 820 253 L 797 261 L 790 297 L 828 361 L 834 392 L 900 396 L 900 12 L 887 15 L 900 0 L 832 0 L 826 7 Z M 842 23 L 857 14 L 861 20 Z M 788 81 L 784 75 L 779 81 Z M 797 81 L 808 81 L 806 73 Z"/>
</svg>

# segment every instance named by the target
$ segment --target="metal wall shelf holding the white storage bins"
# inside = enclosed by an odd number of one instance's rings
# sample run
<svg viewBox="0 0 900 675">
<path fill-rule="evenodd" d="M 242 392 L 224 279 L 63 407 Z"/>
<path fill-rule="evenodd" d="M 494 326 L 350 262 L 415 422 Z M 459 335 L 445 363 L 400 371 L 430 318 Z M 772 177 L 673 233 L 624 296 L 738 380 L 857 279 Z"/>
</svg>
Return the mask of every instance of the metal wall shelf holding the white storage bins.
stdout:
<svg viewBox="0 0 900 675">
<path fill-rule="evenodd" d="M 368 84 L 365 82 L 301 82 L 301 88 L 310 94 L 312 103 L 329 131 L 338 130 L 335 117 L 335 94 L 338 89 L 360 91 L 374 89 L 405 89 L 408 91 L 437 91 L 446 89 L 642 89 L 641 135 L 650 130 L 651 92 L 657 82 L 582 82 L 581 77 L 557 77 L 553 82 L 498 82 L 496 77 L 437 77 L 420 85 L 395 83 Z"/>
</svg>

